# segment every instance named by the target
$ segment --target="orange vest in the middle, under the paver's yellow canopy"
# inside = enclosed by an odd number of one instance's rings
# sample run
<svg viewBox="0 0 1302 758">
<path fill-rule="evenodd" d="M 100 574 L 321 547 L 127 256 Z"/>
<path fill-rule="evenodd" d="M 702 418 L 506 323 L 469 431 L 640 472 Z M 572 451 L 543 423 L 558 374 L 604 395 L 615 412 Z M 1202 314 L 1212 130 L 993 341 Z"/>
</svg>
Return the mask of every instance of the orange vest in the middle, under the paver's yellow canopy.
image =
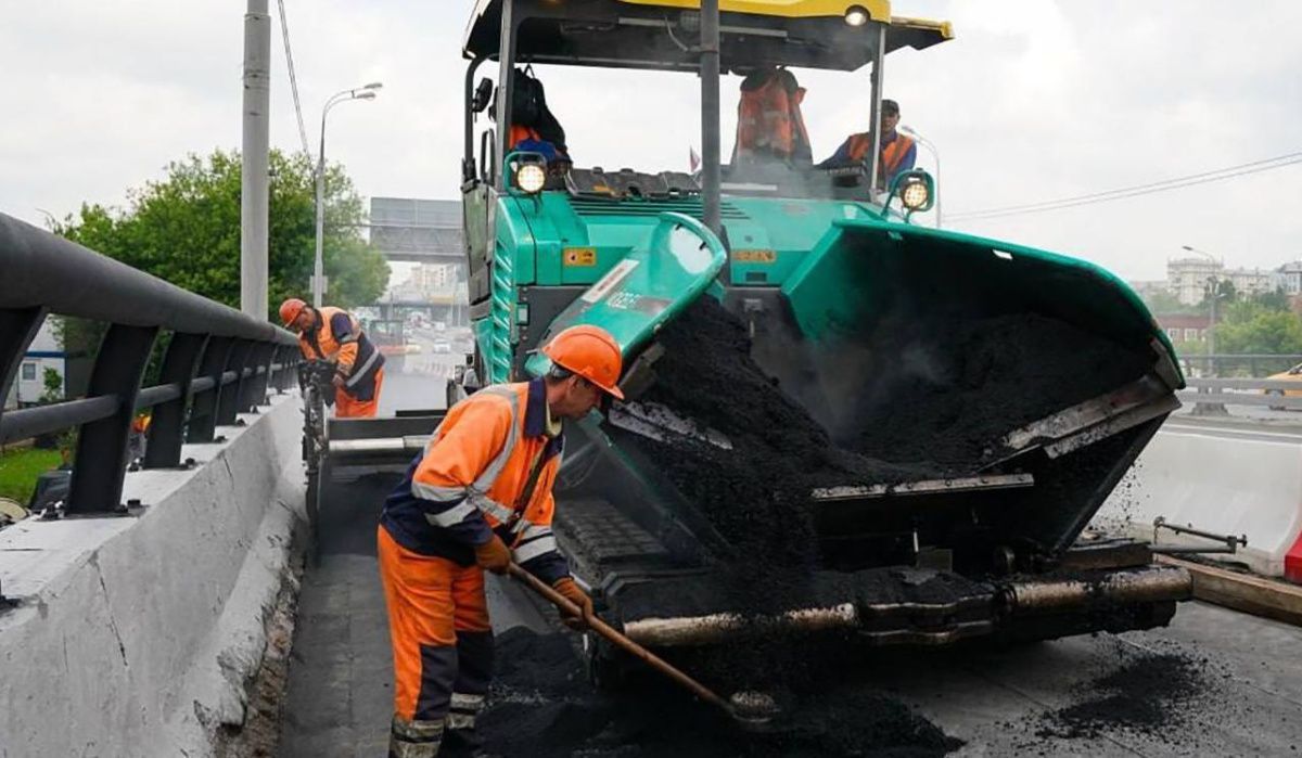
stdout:
<svg viewBox="0 0 1302 758">
<path fill-rule="evenodd" d="M 790 160 L 807 152 L 809 132 L 801 115 L 805 89 L 783 70 L 773 70 L 754 89 L 742 83 L 737 104 L 736 158 L 780 158 Z"/>
</svg>

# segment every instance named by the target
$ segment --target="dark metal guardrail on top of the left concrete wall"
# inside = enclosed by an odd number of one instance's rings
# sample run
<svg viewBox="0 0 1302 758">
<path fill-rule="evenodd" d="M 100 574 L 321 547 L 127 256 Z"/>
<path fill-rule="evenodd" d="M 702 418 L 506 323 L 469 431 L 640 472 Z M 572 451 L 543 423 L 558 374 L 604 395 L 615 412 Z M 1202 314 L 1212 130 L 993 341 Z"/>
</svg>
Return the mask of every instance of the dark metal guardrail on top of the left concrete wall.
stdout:
<svg viewBox="0 0 1302 758">
<path fill-rule="evenodd" d="M 214 442 L 216 427 L 285 389 L 297 339 L 268 322 L 173 287 L 81 245 L 0 214 L 0 391 L 51 314 L 108 324 L 86 397 L 0 410 L 0 444 L 78 427 L 66 514 L 122 512 L 128 438 L 152 409 L 143 465 L 181 465 L 181 445 Z M 160 332 L 171 343 L 160 384 L 141 388 Z"/>
</svg>

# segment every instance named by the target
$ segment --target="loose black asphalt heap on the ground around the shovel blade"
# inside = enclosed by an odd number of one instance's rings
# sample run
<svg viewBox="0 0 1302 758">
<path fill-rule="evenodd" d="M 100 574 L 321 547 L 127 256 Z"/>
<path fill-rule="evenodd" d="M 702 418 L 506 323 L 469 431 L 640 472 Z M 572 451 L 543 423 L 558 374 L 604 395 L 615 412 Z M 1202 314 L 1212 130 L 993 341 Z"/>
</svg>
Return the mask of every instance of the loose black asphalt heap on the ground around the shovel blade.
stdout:
<svg viewBox="0 0 1302 758">
<path fill-rule="evenodd" d="M 626 695 L 602 694 L 589 684 L 570 639 L 523 628 L 497 637 L 493 690 L 479 718 L 490 750 L 508 758 L 924 758 L 961 745 L 850 676 L 780 693 L 784 711 L 766 732 L 741 731 L 656 681 Z"/>
</svg>

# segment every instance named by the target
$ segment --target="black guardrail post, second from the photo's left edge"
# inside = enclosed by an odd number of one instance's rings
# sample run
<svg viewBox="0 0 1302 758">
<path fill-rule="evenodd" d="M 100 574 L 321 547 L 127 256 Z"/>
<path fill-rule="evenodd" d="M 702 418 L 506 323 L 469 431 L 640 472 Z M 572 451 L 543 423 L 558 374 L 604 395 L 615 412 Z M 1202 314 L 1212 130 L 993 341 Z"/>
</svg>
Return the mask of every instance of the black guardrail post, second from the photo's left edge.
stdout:
<svg viewBox="0 0 1302 758">
<path fill-rule="evenodd" d="M 109 513 L 121 507 L 135 395 L 158 332 L 158 327 L 108 327 L 91 369 L 87 397 L 116 396 L 117 413 L 81 427 L 66 513 Z"/>
</svg>

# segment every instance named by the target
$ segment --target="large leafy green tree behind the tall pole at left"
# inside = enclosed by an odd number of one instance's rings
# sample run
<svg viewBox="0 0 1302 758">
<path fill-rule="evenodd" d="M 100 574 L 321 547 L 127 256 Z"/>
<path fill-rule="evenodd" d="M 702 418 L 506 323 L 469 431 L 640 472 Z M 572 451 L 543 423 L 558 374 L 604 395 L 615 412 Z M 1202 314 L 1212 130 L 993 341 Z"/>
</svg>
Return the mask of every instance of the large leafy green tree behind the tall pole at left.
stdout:
<svg viewBox="0 0 1302 758">
<path fill-rule="evenodd" d="M 268 319 L 280 301 L 307 297 L 315 251 L 315 182 L 311 160 L 271 152 Z M 240 307 L 240 195 L 237 152 L 190 155 L 168 165 L 167 178 L 128 191 L 129 207 L 83 204 L 53 232 L 190 292 Z M 366 211 L 339 165 L 326 171 L 324 263 L 331 305 L 379 300 L 388 264 L 362 237 Z M 72 319 L 65 319 L 70 322 Z M 98 344 L 95 333 L 64 327 L 64 345 Z"/>
</svg>

